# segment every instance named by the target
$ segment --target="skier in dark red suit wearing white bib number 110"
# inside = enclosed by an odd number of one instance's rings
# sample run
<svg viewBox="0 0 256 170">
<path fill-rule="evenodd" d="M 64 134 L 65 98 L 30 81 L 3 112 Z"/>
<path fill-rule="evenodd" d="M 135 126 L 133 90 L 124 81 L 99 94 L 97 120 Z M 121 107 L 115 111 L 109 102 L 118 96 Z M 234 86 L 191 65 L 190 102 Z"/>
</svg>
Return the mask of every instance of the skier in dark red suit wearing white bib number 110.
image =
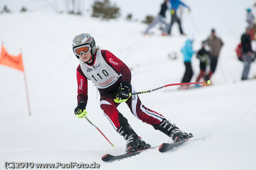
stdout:
<svg viewBox="0 0 256 170">
<path fill-rule="evenodd" d="M 79 34 L 73 39 L 73 52 L 80 60 L 77 67 L 78 105 L 75 115 L 85 118 L 87 112 L 87 80 L 96 84 L 100 93 L 100 107 L 111 122 L 113 128 L 122 135 L 126 142 L 127 152 L 151 147 L 146 144 L 128 124 L 128 120 L 116 109 L 125 102 L 135 117 L 150 124 L 170 136 L 174 142 L 187 138 L 188 134 L 179 130 L 175 124 L 159 113 L 146 108 L 131 85 L 131 71 L 119 58 L 107 50 L 96 47 L 90 34 Z"/>
</svg>

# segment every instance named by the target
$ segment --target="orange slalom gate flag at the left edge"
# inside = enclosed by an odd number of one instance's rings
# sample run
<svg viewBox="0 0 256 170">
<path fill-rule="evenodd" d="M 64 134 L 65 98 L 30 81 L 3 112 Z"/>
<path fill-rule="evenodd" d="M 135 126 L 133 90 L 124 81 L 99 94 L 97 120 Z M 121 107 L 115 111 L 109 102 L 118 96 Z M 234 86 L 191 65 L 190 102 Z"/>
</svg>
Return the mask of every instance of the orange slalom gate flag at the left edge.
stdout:
<svg viewBox="0 0 256 170">
<path fill-rule="evenodd" d="M 21 53 L 18 56 L 9 55 L 2 45 L 0 64 L 18 69 L 24 72 Z"/>
</svg>

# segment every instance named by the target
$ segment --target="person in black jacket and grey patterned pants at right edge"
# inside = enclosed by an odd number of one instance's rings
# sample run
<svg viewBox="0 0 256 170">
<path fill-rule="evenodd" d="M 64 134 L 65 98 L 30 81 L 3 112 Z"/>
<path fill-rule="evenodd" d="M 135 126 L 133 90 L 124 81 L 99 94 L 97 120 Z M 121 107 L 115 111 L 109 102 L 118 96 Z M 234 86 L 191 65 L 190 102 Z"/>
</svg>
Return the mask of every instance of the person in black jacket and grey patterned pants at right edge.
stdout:
<svg viewBox="0 0 256 170">
<path fill-rule="evenodd" d="M 251 58 L 253 51 L 251 47 L 251 39 L 250 39 L 250 28 L 247 27 L 245 33 L 241 37 L 241 44 L 243 49 L 242 61 L 244 62 L 244 71 L 242 74 L 242 80 L 248 79 L 248 73 L 250 71 L 250 63 L 253 61 Z"/>
</svg>

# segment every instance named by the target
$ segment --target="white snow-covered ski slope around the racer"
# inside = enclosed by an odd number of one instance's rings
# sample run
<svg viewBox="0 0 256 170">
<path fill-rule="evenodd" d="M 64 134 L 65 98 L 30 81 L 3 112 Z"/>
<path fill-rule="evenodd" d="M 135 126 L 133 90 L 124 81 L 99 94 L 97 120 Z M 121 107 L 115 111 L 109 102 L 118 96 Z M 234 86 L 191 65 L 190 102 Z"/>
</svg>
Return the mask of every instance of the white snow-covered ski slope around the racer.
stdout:
<svg viewBox="0 0 256 170">
<path fill-rule="evenodd" d="M 23 73 L 0 65 L 0 169 L 6 161 L 96 162 L 103 170 L 256 169 L 256 80 L 240 81 L 243 63 L 236 59 L 236 37 L 221 37 L 225 45 L 212 86 L 183 91 L 171 86 L 140 95 L 146 107 L 193 133 L 194 138 L 168 153 L 148 150 L 105 163 L 101 157 L 106 153 L 125 153 L 125 140 L 103 115 L 91 82 L 87 117 L 116 148 L 111 148 L 86 119 L 74 116 L 79 62 L 71 49 L 73 37 L 88 32 L 97 45 L 124 61 L 132 75 L 136 73 L 132 84 L 137 91 L 181 81 L 185 68 L 180 49 L 187 37 L 162 37 L 157 28 L 153 29 L 154 35 L 143 36 L 146 26 L 140 23 L 66 14 L 1 14 L 0 23 L 0 40 L 6 50 L 12 55 L 22 50 L 32 109 L 29 116 Z M 195 39 L 195 50 L 207 36 Z M 177 60 L 169 59 L 170 52 L 177 52 Z M 199 74 L 195 56 L 192 67 L 195 81 Z M 256 64 L 252 63 L 249 77 L 255 74 Z M 135 118 L 125 104 L 118 108 L 147 143 L 156 146 L 171 142 L 168 136 Z"/>
</svg>

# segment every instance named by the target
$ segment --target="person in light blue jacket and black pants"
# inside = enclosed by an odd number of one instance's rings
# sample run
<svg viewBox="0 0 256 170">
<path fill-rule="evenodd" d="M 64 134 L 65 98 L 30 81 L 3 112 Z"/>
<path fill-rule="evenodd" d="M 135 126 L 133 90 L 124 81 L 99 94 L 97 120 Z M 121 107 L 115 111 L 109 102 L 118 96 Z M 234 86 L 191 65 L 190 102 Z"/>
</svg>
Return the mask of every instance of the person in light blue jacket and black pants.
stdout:
<svg viewBox="0 0 256 170">
<path fill-rule="evenodd" d="M 181 83 L 189 83 L 193 75 L 193 70 L 191 67 L 191 58 L 195 52 L 193 50 L 192 44 L 193 44 L 193 39 L 190 38 L 186 40 L 185 46 L 183 46 L 183 48 L 181 49 L 181 52 L 183 53 L 183 56 L 184 56 L 184 64 L 186 66 L 186 71 L 184 73 Z M 187 88 L 189 88 L 189 86 L 187 85 L 180 86 L 180 89 L 187 89 Z"/>
</svg>

